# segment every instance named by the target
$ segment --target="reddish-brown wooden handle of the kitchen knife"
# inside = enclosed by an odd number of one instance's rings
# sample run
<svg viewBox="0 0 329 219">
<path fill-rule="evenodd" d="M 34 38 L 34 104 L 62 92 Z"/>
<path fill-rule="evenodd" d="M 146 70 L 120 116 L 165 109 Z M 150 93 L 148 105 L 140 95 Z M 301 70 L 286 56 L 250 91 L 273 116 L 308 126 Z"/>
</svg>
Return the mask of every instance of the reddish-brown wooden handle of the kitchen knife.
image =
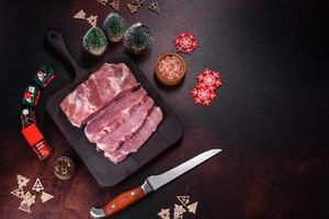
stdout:
<svg viewBox="0 0 329 219">
<path fill-rule="evenodd" d="M 103 207 L 105 216 L 113 216 L 133 205 L 137 200 L 140 200 L 145 196 L 146 194 L 141 187 L 127 191 L 110 200 L 110 203 Z"/>
</svg>

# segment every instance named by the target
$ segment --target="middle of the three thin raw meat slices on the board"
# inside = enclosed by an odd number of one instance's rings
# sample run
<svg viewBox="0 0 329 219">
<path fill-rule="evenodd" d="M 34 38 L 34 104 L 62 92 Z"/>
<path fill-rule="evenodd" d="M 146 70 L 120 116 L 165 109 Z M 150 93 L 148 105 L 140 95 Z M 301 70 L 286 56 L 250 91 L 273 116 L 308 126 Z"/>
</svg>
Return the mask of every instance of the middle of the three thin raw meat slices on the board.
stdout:
<svg viewBox="0 0 329 219">
<path fill-rule="evenodd" d="M 107 152 L 113 152 L 118 149 L 123 142 L 139 130 L 152 108 L 154 100 L 148 97 L 145 103 L 134 111 L 132 116 L 125 123 L 98 141 L 98 148 Z"/>
</svg>

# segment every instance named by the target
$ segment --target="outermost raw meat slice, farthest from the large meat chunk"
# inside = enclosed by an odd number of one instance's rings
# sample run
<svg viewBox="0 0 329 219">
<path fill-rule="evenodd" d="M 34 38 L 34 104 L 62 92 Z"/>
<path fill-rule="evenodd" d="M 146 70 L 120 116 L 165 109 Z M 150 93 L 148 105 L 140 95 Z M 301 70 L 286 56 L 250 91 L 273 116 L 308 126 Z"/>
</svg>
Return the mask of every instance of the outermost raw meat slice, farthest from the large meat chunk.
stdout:
<svg viewBox="0 0 329 219">
<path fill-rule="evenodd" d="M 114 152 L 104 152 L 104 155 L 112 162 L 123 161 L 129 153 L 136 152 L 157 130 L 158 125 L 162 120 L 162 112 L 159 107 L 154 107 L 144 126 L 128 140 L 126 140 L 120 149 Z"/>
</svg>

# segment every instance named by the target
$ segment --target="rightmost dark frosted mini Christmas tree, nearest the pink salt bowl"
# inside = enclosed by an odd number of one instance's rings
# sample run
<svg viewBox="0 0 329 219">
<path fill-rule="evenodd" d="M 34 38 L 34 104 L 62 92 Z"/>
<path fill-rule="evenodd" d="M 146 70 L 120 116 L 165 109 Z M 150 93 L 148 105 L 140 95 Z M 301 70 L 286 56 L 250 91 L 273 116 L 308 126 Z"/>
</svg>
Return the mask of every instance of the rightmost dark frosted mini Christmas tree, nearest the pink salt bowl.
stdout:
<svg viewBox="0 0 329 219">
<path fill-rule="evenodd" d="M 154 42 L 155 38 L 150 28 L 141 23 L 133 24 L 124 35 L 124 45 L 133 54 L 147 50 Z"/>
</svg>

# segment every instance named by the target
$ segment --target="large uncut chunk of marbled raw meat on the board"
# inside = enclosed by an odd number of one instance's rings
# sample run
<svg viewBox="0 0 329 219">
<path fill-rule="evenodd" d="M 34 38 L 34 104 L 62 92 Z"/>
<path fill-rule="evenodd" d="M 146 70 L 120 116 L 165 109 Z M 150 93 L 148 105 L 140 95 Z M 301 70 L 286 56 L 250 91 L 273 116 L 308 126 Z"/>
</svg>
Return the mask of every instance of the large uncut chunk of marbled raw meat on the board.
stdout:
<svg viewBox="0 0 329 219">
<path fill-rule="evenodd" d="M 60 103 L 73 126 L 81 127 L 104 106 L 138 87 L 124 64 L 104 64 Z"/>
</svg>

